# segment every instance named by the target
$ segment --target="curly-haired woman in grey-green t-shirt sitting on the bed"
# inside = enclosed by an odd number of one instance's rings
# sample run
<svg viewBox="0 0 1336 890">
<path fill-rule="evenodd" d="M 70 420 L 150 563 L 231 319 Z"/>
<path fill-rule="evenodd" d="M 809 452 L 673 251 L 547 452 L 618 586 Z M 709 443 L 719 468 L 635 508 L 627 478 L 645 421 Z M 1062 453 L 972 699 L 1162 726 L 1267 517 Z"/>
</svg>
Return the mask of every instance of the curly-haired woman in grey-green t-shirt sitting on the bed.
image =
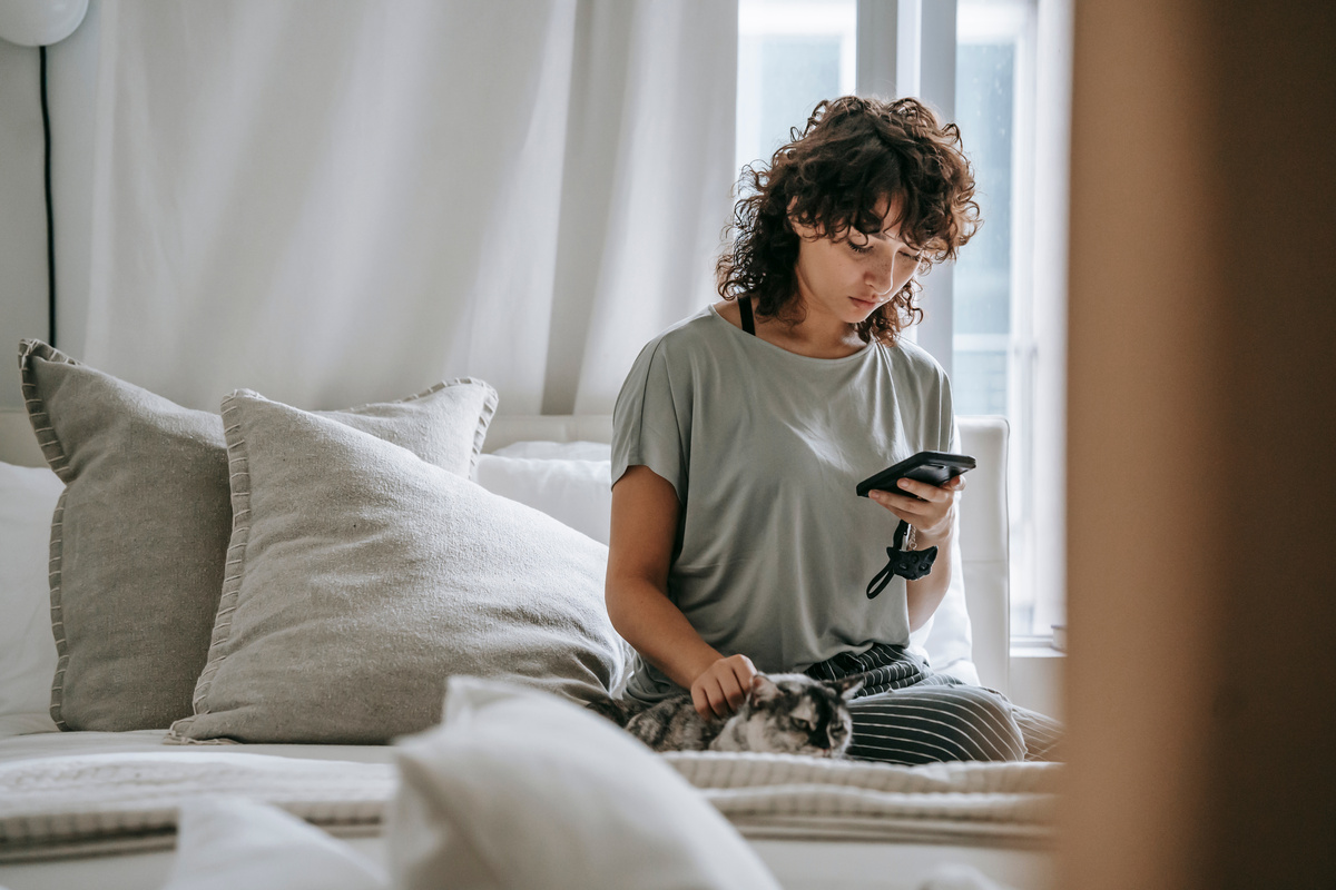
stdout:
<svg viewBox="0 0 1336 890">
<path fill-rule="evenodd" d="M 756 671 L 872 671 L 852 757 L 1046 757 L 1055 723 L 907 650 L 961 570 L 965 479 L 854 494 L 959 451 L 946 375 L 900 336 L 922 318 L 915 274 L 978 223 L 958 129 L 914 99 L 847 96 L 749 173 L 723 302 L 645 346 L 617 398 L 607 602 L 639 654 L 627 694 L 689 690 L 725 717 Z M 900 519 L 942 558 L 870 599 Z"/>
</svg>

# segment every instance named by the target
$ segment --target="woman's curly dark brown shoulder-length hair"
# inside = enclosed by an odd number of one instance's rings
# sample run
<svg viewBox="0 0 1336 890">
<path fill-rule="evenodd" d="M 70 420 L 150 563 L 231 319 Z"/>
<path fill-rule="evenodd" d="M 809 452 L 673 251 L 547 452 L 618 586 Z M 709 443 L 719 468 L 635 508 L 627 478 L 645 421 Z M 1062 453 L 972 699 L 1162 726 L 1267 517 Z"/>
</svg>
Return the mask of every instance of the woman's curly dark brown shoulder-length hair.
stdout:
<svg viewBox="0 0 1336 890">
<path fill-rule="evenodd" d="M 790 217 L 835 239 L 850 228 L 882 231 L 878 207 L 900 201 L 900 240 L 923 252 L 922 272 L 954 260 L 979 226 L 974 173 L 961 131 L 942 124 L 916 99 L 843 96 L 818 103 L 802 132 L 782 145 L 767 168 L 743 168 L 728 232 L 732 248 L 719 258 L 719 295 L 751 296 L 758 315 L 802 322 L 798 300 L 799 236 Z M 915 279 L 858 326 L 864 343 L 895 344 L 923 319 Z"/>
</svg>

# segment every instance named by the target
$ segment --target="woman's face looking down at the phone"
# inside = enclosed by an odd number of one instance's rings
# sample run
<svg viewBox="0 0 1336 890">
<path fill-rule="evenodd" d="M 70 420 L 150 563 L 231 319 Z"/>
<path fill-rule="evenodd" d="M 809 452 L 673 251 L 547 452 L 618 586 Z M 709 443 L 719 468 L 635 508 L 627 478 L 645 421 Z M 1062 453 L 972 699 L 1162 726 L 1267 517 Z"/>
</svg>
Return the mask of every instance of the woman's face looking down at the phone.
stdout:
<svg viewBox="0 0 1336 890">
<path fill-rule="evenodd" d="M 850 230 L 835 240 L 792 221 L 798 247 L 798 295 L 808 315 L 858 324 L 914 276 L 919 254 L 899 238 L 899 201 L 883 201 L 880 232 Z"/>
</svg>

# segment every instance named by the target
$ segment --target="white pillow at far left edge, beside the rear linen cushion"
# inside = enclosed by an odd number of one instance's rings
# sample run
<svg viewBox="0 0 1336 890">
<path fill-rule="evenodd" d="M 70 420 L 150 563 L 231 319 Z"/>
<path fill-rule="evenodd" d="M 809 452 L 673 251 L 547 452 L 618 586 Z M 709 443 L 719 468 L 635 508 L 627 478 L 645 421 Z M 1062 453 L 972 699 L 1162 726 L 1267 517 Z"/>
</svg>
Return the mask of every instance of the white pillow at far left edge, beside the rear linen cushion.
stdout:
<svg viewBox="0 0 1336 890">
<path fill-rule="evenodd" d="M 47 560 L 61 491 L 47 467 L 0 463 L 0 738 L 56 731 Z"/>
</svg>

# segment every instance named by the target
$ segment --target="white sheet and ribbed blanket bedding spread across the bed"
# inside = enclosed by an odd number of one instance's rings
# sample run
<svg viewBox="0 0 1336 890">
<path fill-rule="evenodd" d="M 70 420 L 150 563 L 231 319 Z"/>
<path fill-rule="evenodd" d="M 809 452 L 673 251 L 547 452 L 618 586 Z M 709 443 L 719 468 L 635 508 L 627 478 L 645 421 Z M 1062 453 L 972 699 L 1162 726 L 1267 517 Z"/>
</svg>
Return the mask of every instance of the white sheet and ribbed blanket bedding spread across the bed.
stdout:
<svg viewBox="0 0 1336 890">
<path fill-rule="evenodd" d="M 174 801 L 243 791 L 341 835 L 378 833 L 393 794 L 393 749 L 163 746 L 164 731 L 0 739 L 0 885 L 156 887 L 171 857 L 23 858 L 167 850 Z M 1058 765 L 886 767 L 749 754 L 667 755 L 756 846 L 788 887 L 908 887 L 965 862 L 1014 887 L 1051 886 L 1045 853 Z M 298 763 L 285 763 L 295 759 Z M 379 838 L 357 842 L 379 857 Z M 83 865 L 77 865 L 77 863 Z M 99 871 L 124 871 L 124 883 Z M 65 867 L 68 866 L 68 867 Z"/>
</svg>

